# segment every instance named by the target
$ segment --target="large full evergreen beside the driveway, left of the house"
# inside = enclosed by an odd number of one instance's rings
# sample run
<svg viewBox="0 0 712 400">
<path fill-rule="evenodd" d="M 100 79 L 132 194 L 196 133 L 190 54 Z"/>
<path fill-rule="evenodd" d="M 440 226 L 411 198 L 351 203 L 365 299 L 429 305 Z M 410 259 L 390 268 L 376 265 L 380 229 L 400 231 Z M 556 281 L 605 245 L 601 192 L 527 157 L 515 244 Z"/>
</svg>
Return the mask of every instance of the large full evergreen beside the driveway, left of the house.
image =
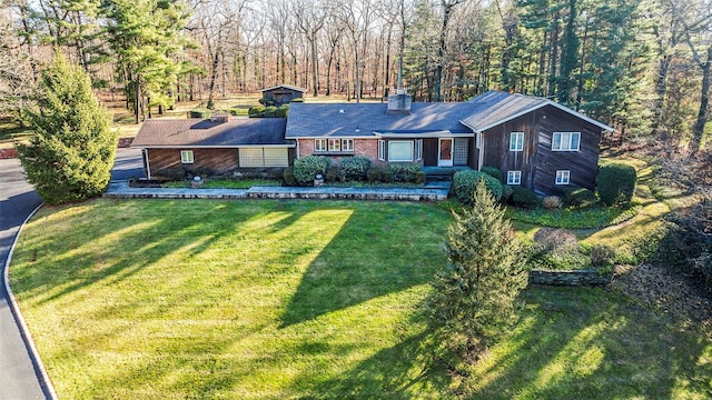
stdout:
<svg viewBox="0 0 712 400">
<path fill-rule="evenodd" d="M 91 80 L 59 52 L 42 71 L 37 107 L 23 110 L 36 132 L 18 144 L 27 178 L 49 204 L 99 196 L 111 178 L 118 134 L 91 92 Z"/>
</svg>

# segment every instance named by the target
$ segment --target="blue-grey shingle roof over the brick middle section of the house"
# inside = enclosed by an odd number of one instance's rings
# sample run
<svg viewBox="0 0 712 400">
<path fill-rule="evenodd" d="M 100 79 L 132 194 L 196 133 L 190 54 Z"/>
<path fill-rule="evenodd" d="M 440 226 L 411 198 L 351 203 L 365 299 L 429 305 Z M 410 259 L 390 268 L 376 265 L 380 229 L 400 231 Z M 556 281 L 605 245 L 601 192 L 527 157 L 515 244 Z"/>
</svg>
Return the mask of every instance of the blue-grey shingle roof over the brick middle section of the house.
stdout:
<svg viewBox="0 0 712 400">
<path fill-rule="evenodd" d="M 386 113 L 385 103 L 291 103 L 287 138 L 375 137 L 376 133 L 472 133 L 459 121 L 468 103 L 413 103 L 411 114 Z"/>
</svg>

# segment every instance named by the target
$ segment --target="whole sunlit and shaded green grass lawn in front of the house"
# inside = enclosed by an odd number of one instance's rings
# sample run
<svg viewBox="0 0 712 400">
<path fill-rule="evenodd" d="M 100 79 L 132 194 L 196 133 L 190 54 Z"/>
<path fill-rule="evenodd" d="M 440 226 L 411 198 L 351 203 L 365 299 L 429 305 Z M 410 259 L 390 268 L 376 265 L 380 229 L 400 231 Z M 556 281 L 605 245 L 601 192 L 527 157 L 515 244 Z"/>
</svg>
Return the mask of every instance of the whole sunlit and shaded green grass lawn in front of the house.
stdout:
<svg viewBox="0 0 712 400">
<path fill-rule="evenodd" d="M 418 313 L 435 204 L 96 200 L 42 209 L 11 286 L 62 399 L 703 399 L 712 343 L 603 289 L 528 289 L 453 376 Z"/>
</svg>

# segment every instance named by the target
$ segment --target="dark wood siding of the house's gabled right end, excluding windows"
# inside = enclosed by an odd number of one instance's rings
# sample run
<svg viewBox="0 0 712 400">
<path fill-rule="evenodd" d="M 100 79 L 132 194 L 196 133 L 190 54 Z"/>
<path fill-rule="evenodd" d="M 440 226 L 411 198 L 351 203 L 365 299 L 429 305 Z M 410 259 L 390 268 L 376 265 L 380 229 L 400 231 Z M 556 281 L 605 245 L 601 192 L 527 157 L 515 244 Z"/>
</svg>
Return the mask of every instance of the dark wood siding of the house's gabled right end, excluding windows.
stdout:
<svg viewBox="0 0 712 400">
<path fill-rule="evenodd" d="M 510 134 L 524 132 L 524 150 L 510 151 Z M 552 151 L 554 132 L 581 132 L 578 151 Z M 522 186 L 537 194 L 558 194 L 556 171 L 571 171 L 570 186 L 595 189 L 601 128 L 547 106 L 484 132 L 483 166 L 522 171 Z"/>
</svg>

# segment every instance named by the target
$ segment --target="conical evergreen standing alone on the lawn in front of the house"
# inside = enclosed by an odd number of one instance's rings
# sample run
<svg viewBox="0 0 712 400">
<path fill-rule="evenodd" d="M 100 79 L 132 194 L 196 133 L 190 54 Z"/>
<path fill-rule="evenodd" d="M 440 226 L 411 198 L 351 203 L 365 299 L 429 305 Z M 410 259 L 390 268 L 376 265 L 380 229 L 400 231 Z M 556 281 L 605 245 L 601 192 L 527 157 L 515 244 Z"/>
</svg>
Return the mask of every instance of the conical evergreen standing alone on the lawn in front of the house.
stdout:
<svg viewBox="0 0 712 400">
<path fill-rule="evenodd" d="M 445 243 L 448 264 L 427 301 L 431 321 L 465 353 L 504 331 L 527 283 L 523 247 L 484 182 L 474 200 L 472 209 L 454 214 Z"/>
</svg>

